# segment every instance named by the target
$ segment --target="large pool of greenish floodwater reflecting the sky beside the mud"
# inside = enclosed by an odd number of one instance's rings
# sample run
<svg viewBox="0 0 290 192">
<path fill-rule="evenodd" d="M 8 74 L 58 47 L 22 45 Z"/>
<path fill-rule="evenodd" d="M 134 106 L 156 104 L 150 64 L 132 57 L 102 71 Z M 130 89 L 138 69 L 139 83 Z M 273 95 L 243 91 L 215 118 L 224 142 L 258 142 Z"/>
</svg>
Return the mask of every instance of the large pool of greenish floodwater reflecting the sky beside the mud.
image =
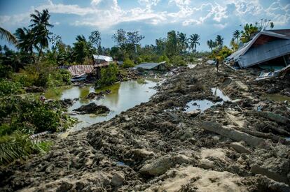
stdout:
<svg viewBox="0 0 290 192">
<path fill-rule="evenodd" d="M 153 96 L 153 94 L 156 94 L 156 89 L 153 89 L 153 87 L 155 87 L 158 82 L 159 80 L 156 79 L 131 80 L 97 90 L 90 86 L 64 87 L 60 89 L 61 93 L 53 94 L 54 91 L 50 90 L 46 92 L 45 96 L 48 99 L 79 98 L 78 101 L 74 102 L 74 105 L 68 108 L 68 112 L 73 112 L 74 109 L 81 107 L 81 105 L 87 105 L 92 102 L 97 105 L 105 105 L 111 110 L 108 114 L 104 115 L 73 115 L 72 117 L 76 117 L 80 122 L 71 128 L 70 131 L 77 131 L 83 127 L 107 121 L 120 114 L 120 112 L 149 101 L 149 98 Z M 90 92 L 99 92 L 105 89 L 110 89 L 112 93 L 99 100 L 88 100 L 85 98 Z"/>
</svg>

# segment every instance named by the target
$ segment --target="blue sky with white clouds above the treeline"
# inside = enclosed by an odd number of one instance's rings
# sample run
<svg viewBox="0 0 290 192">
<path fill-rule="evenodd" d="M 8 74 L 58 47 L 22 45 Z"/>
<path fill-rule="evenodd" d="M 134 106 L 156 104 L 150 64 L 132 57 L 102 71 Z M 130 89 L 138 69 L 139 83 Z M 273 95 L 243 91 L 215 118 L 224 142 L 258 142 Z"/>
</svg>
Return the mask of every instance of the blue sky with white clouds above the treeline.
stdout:
<svg viewBox="0 0 290 192">
<path fill-rule="evenodd" d="M 272 20 L 274 29 L 290 29 L 289 0 L 0 0 L 0 26 L 14 33 L 29 25 L 35 9 L 46 8 L 54 25 L 50 31 L 69 45 L 77 35 L 88 38 L 98 30 L 102 46 L 111 47 L 111 36 L 121 28 L 139 31 L 145 36 L 141 45 L 150 45 L 175 30 L 199 34 L 198 50 L 206 51 L 207 40 L 221 35 L 228 45 L 233 31 L 262 18 Z"/>
</svg>

